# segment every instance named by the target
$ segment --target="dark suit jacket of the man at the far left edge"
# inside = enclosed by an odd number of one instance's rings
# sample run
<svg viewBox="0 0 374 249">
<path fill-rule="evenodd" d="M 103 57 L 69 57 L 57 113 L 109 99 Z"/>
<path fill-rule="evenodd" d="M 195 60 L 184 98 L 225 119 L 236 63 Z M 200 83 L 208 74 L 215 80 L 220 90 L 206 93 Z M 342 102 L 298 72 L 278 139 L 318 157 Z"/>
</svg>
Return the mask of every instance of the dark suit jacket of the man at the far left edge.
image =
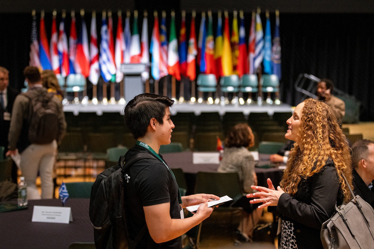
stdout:
<svg viewBox="0 0 374 249">
<path fill-rule="evenodd" d="M 16 96 L 19 94 L 18 91 L 14 90 L 13 88 L 7 88 L 7 107 L 5 110 L 0 105 L 0 146 L 5 147 L 5 151 L 8 150 L 8 132 L 9 132 L 9 125 L 10 121 L 4 120 L 4 112 L 7 111 L 12 114 L 13 103 L 16 99 Z"/>
</svg>

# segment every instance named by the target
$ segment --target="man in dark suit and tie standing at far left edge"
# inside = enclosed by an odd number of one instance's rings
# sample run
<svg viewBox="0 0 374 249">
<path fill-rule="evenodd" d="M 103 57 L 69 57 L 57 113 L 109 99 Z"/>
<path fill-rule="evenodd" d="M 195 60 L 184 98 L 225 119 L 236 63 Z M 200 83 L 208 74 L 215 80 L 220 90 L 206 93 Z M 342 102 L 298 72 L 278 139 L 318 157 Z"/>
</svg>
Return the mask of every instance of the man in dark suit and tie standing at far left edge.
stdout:
<svg viewBox="0 0 374 249">
<path fill-rule="evenodd" d="M 8 151 L 8 133 L 12 108 L 18 91 L 9 87 L 9 71 L 0 66 L 0 146 L 4 147 L 4 155 Z M 17 166 L 12 166 L 12 181 L 17 183 Z"/>
</svg>

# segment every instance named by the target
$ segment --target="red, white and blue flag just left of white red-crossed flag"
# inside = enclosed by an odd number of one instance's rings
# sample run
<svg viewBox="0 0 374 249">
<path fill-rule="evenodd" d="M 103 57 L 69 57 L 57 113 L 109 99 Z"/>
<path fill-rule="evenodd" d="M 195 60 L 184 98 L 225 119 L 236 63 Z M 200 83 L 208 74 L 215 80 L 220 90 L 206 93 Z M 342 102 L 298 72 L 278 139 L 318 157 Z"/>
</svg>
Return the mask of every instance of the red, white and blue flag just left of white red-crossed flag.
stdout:
<svg viewBox="0 0 374 249">
<path fill-rule="evenodd" d="M 78 35 L 77 53 L 76 53 L 76 71 L 83 74 L 86 78 L 89 75 L 90 59 L 88 51 L 88 35 L 84 14 L 82 16 L 82 29 Z"/>
</svg>

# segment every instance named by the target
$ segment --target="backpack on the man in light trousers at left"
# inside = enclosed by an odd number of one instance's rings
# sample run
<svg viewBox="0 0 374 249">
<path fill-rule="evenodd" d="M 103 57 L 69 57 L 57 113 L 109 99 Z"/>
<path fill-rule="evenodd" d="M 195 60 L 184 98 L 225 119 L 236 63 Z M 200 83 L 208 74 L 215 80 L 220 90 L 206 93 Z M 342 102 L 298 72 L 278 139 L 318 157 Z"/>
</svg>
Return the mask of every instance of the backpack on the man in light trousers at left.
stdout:
<svg viewBox="0 0 374 249">
<path fill-rule="evenodd" d="M 30 93 L 22 93 L 28 97 L 28 140 L 33 144 L 48 144 L 58 139 L 58 112 L 59 106 L 53 99 L 53 93 L 32 96 Z"/>
</svg>

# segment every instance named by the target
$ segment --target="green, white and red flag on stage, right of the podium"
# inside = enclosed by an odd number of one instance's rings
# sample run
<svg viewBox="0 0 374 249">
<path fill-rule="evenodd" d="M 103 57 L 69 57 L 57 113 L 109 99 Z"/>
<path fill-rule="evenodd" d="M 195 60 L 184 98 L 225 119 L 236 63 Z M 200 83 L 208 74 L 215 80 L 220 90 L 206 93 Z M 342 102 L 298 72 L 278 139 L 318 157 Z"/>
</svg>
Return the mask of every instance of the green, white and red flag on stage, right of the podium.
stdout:
<svg viewBox="0 0 374 249">
<path fill-rule="evenodd" d="M 168 73 L 181 80 L 179 69 L 178 41 L 175 32 L 175 12 L 171 12 L 170 38 L 168 47 Z"/>
</svg>

